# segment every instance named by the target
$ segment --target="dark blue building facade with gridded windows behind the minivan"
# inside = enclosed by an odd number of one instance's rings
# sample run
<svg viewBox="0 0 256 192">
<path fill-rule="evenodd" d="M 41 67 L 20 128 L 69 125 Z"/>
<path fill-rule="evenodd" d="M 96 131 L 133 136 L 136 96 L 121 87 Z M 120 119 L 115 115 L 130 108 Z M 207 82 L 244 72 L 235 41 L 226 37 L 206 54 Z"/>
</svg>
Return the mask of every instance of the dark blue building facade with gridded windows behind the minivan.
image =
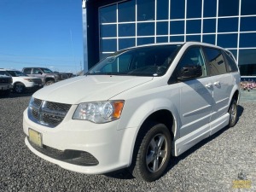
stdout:
<svg viewBox="0 0 256 192">
<path fill-rule="evenodd" d="M 119 49 L 198 41 L 229 49 L 256 76 L 255 0 L 83 0 L 84 69 Z"/>
</svg>

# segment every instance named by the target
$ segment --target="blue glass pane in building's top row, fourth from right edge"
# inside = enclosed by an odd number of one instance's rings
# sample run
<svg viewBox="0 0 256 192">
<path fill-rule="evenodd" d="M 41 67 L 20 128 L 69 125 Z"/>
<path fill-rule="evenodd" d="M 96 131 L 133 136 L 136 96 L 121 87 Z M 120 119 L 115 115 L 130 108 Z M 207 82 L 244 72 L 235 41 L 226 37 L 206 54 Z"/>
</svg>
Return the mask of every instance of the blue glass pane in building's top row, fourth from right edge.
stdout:
<svg viewBox="0 0 256 192">
<path fill-rule="evenodd" d="M 201 18 L 201 0 L 187 0 L 187 18 Z"/>
</svg>

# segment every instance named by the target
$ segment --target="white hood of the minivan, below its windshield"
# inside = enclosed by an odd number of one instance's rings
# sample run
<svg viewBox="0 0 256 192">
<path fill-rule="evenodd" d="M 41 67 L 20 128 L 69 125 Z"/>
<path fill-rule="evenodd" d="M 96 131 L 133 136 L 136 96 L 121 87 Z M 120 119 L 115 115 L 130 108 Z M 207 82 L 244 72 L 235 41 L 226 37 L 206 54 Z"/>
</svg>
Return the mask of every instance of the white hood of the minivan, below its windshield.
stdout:
<svg viewBox="0 0 256 192">
<path fill-rule="evenodd" d="M 153 77 L 88 75 L 45 86 L 34 93 L 33 97 L 68 104 L 106 101 L 152 79 Z"/>
</svg>

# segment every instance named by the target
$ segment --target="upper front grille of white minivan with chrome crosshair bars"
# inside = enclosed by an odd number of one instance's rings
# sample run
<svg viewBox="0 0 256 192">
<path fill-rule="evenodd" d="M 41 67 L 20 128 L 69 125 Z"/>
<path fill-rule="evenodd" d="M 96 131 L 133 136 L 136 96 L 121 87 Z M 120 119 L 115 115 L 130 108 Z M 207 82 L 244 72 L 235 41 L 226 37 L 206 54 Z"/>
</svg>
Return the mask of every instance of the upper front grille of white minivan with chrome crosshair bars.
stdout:
<svg viewBox="0 0 256 192">
<path fill-rule="evenodd" d="M 47 102 L 32 97 L 28 107 L 28 118 L 40 125 L 54 128 L 65 118 L 69 108 L 69 104 Z"/>
</svg>

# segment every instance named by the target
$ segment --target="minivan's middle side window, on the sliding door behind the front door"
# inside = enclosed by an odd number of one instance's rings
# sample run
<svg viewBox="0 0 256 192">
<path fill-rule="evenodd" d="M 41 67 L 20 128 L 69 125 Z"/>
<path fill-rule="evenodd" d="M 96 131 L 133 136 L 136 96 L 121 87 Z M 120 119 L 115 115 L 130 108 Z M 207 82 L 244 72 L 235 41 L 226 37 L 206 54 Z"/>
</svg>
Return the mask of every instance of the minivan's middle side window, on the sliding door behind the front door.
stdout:
<svg viewBox="0 0 256 192">
<path fill-rule="evenodd" d="M 224 56 L 219 49 L 204 48 L 211 75 L 227 73 Z"/>
</svg>

